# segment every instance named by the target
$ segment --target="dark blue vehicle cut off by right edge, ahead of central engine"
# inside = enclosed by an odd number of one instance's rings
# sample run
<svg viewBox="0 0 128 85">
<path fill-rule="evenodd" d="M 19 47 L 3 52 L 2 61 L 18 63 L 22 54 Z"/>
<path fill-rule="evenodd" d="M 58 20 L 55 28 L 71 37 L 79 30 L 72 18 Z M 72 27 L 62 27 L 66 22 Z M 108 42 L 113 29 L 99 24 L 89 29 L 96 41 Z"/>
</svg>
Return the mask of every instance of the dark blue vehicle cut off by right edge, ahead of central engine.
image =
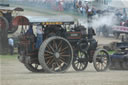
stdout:
<svg viewBox="0 0 128 85">
<path fill-rule="evenodd" d="M 128 41 L 122 41 L 116 44 L 117 50 L 110 56 L 112 70 L 128 70 Z"/>
</svg>

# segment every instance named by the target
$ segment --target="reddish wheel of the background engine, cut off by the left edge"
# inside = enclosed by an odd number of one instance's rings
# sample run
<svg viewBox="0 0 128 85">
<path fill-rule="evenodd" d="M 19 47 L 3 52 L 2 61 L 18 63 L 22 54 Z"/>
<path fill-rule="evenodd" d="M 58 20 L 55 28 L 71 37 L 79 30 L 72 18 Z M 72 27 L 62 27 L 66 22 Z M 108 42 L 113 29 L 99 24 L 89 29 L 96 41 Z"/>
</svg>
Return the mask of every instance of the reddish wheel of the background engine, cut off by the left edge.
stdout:
<svg viewBox="0 0 128 85">
<path fill-rule="evenodd" d="M 8 30 L 9 24 L 6 18 L 0 16 L 0 32 L 5 33 Z"/>
</svg>

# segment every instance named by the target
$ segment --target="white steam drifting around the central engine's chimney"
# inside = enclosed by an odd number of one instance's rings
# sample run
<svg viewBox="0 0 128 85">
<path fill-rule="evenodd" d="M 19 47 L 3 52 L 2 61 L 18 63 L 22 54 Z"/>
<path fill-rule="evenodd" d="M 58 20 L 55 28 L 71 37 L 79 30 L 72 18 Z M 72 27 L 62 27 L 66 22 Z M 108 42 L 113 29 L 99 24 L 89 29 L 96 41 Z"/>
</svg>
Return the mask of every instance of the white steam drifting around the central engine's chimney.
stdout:
<svg viewBox="0 0 128 85">
<path fill-rule="evenodd" d="M 97 28 L 99 28 L 99 27 L 101 27 L 103 25 L 106 25 L 106 26 L 110 27 L 110 26 L 113 26 L 113 25 L 117 24 L 118 22 L 119 22 L 119 20 L 117 20 L 117 18 L 114 15 L 114 13 L 102 15 L 100 17 L 98 17 L 98 15 L 95 15 L 95 16 L 93 16 L 91 26 L 94 29 L 97 29 Z M 79 19 L 79 23 L 81 25 L 84 25 L 86 28 L 88 28 L 87 20 Z"/>
</svg>

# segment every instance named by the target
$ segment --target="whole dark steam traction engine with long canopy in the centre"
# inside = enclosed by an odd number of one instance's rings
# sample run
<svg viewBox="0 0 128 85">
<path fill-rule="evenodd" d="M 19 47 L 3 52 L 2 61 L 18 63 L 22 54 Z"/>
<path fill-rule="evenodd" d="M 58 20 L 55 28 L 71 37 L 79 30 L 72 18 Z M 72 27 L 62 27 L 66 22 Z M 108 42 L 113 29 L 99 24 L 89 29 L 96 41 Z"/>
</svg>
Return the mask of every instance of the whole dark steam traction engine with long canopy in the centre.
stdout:
<svg viewBox="0 0 128 85">
<path fill-rule="evenodd" d="M 104 71 L 109 66 L 109 55 L 104 49 L 97 49 L 93 39 L 94 30 L 88 34 L 83 26 L 74 26 L 74 19 L 69 16 L 23 17 L 24 22 L 15 19 L 14 25 L 35 25 L 44 27 L 43 42 L 35 49 L 35 34 L 23 33 L 19 36 L 18 59 L 32 72 L 64 72 L 72 64 L 76 71 L 84 70 L 88 62 L 94 64 L 97 71 Z M 29 22 L 28 22 L 29 21 Z M 26 24 L 28 23 L 28 24 Z M 72 27 L 71 27 L 72 26 Z M 24 30 L 22 26 L 22 30 Z"/>
</svg>

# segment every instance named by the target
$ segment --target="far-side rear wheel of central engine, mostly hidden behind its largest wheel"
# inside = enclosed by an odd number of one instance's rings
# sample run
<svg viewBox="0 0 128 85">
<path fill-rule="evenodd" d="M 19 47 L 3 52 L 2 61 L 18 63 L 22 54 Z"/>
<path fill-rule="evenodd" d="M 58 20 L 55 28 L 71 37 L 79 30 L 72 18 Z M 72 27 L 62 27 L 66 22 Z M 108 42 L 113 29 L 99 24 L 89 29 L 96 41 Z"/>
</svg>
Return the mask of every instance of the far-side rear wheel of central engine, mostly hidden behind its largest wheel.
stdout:
<svg viewBox="0 0 128 85">
<path fill-rule="evenodd" d="M 44 72 L 44 69 L 37 61 L 38 61 L 38 59 L 31 59 L 30 57 L 26 57 L 24 65 L 29 71 Z"/>
</svg>

